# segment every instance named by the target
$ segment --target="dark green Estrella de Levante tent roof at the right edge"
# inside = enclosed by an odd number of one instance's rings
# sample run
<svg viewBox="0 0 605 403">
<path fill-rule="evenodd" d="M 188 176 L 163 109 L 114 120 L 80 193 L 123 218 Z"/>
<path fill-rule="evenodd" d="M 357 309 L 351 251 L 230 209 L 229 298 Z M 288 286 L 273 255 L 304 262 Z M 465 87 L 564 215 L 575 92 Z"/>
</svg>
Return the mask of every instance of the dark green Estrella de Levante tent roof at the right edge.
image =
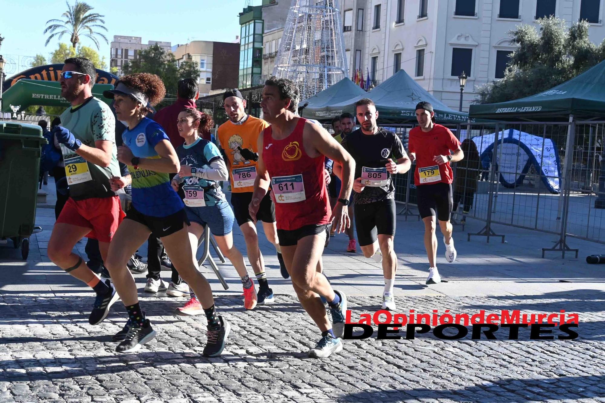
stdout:
<svg viewBox="0 0 605 403">
<path fill-rule="evenodd" d="M 507 102 L 471 105 L 473 118 L 559 121 L 605 118 L 605 61 L 548 91 Z"/>
</svg>

